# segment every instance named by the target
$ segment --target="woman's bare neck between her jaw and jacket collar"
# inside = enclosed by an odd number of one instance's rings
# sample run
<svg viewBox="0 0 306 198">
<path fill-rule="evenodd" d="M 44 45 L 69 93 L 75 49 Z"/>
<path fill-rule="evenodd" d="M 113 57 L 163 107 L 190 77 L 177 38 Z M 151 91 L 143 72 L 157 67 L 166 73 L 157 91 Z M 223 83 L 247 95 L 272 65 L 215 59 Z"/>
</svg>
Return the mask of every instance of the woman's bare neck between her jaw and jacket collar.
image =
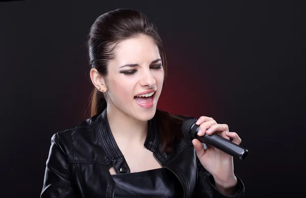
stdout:
<svg viewBox="0 0 306 198">
<path fill-rule="evenodd" d="M 107 118 L 117 142 L 144 143 L 148 121 L 137 120 L 112 105 L 107 106 Z"/>
</svg>

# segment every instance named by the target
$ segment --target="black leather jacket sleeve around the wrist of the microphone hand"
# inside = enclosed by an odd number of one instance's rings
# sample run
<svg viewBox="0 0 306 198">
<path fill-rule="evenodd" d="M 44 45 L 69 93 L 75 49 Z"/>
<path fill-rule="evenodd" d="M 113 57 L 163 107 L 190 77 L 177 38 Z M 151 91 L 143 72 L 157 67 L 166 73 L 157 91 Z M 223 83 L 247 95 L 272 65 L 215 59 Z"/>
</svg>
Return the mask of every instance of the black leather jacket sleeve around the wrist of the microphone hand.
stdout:
<svg viewBox="0 0 306 198">
<path fill-rule="evenodd" d="M 214 178 L 208 172 L 202 164 L 197 159 L 197 183 L 196 183 L 196 189 L 195 189 L 195 197 L 198 198 L 240 198 L 244 196 L 244 184 L 241 181 L 241 179 L 237 177 L 238 183 L 236 186 L 236 192 L 234 195 L 224 195 L 222 194 L 215 186 Z"/>
</svg>

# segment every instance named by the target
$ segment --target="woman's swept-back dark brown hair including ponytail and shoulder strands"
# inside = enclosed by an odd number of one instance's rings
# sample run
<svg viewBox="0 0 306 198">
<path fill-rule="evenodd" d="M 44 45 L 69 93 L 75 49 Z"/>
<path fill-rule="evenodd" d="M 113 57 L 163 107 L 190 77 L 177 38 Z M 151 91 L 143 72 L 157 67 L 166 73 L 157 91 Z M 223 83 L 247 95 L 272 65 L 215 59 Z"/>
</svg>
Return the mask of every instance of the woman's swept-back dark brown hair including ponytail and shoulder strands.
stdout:
<svg viewBox="0 0 306 198">
<path fill-rule="evenodd" d="M 100 15 L 92 24 L 88 36 L 89 65 L 96 68 L 100 75 L 108 75 L 108 62 L 114 58 L 116 44 L 122 40 L 138 35 L 147 35 L 154 39 L 162 59 L 162 65 L 167 74 L 167 61 L 162 40 L 155 25 L 147 17 L 136 10 L 117 9 Z M 91 93 L 91 116 L 100 114 L 107 107 L 104 93 L 95 87 Z M 181 138 L 183 119 L 157 109 L 156 117 L 161 132 L 163 150 L 171 152 L 172 142 Z M 177 126 L 179 129 L 173 130 Z M 174 133 L 177 131 L 177 133 Z"/>
</svg>

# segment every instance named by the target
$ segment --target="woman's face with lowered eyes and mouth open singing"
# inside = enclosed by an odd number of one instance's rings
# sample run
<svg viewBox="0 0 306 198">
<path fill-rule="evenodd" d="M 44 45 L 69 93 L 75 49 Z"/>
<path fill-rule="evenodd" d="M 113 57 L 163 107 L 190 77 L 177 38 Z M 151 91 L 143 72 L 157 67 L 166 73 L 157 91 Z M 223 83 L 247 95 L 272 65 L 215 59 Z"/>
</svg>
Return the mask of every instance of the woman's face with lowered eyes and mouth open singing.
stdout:
<svg viewBox="0 0 306 198">
<path fill-rule="evenodd" d="M 138 120 L 149 120 L 156 112 L 164 71 L 154 40 L 145 35 L 126 39 L 116 46 L 108 65 L 108 106 Z"/>
</svg>

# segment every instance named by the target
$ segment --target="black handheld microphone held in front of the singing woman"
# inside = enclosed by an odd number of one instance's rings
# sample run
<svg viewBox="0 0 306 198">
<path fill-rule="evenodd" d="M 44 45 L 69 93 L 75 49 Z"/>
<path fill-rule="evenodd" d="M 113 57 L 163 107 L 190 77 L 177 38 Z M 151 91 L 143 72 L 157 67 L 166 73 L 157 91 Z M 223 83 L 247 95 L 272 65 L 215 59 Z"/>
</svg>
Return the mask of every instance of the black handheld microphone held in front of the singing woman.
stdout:
<svg viewBox="0 0 306 198">
<path fill-rule="evenodd" d="M 246 159 L 248 155 L 246 149 L 218 134 L 213 133 L 212 135 L 204 134 L 203 136 L 197 136 L 199 126 L 195 124 L 196 121 L 197 119 L 186 119 L 182 125 L 183 133 L 191 140 L 198 139 L 200 142 L 214 146 L 233 157 L 238 157 L 240 160 Z"/>
</svg>

